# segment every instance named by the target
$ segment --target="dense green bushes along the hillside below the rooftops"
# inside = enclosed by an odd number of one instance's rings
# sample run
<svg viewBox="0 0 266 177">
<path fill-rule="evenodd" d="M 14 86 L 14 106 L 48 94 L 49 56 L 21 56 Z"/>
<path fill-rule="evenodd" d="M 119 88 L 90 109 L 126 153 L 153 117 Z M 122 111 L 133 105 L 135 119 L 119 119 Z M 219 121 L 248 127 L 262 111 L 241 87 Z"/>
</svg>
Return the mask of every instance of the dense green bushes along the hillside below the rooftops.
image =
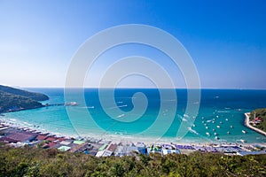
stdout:
<svg viewBox="0 0 266 177">
<path fill-rule="evenodd" d="M 0 148 L 0 176 L 265 176 L 266 156 L 192 153 L 95 158 L 24 147 Z"/>
</svg>

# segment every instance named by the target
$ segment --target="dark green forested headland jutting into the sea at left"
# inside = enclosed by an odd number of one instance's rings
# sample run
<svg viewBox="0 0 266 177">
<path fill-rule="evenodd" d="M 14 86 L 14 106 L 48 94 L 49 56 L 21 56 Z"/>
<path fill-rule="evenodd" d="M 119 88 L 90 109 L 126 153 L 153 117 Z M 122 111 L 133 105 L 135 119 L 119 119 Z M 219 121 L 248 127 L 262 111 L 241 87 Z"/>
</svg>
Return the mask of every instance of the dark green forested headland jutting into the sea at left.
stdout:
<svg viewBox="0 0 266 177">
<path fill-rule="evenodd" d="M 40 101 L 48 99 L 41 93 L 0 85 L 0 113 L 40 108 L 44 106 Z"/>
</svg>

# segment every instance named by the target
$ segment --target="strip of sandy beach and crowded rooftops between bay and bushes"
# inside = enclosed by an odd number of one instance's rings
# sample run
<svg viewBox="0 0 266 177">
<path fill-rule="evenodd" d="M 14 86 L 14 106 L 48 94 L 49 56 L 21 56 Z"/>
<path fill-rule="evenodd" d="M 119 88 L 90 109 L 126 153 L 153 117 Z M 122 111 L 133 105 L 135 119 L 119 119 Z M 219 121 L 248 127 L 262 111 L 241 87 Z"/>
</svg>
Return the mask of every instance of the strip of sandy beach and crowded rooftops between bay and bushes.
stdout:
<svg viewBox="0 0 266 177">
<path fill-rule="evenodd" d="M 36 127 L 20 127 L 0 120 L 0 142 L 11 147 L 25 145 L 42 149 L 82 152 L 95 157 L 130 156 L 137 151 L 141 154 L 170 153 L 189 155 L 194 151 L 207 153 L 223 153 L 224 155 L 266 154 L 266 143 L 251 142 L 184 142 L 168 141 L 167 139 L 138 139 L 130 136 L 115 138 L 114 136 L 95 135 L 64 135 L 53 134 L 51 131 L 38 131 Z"/>
</svg>

